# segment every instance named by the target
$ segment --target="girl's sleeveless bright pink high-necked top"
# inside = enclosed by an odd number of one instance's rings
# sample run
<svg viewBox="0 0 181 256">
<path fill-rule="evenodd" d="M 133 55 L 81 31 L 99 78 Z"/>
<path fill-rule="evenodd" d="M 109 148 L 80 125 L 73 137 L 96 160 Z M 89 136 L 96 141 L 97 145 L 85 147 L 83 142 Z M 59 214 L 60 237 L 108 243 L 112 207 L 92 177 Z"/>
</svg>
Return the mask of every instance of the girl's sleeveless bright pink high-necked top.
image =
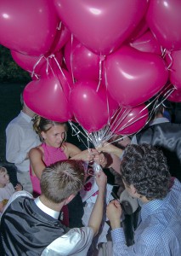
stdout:
<svg viewBox="0 0 181 256">
<path fill-rule="evenodd" d="M 41 147 L 43 148 L 44 155 L 43 155 L 43 162 L 45 166 L 50 166 L 54 164 L 55 162 L 58 162 L 59 160 L 66 160 L 67 157 L 64 153 L 64 150 L 62 148 L 54 148 L 51 146 L 48 146 L 45 143 L 42 143 Z M 37 195 L 41 194 L 40 189 L 40 180 L 37 176 L 33 176 L 30 168 L 30 176 L 31 176 L 31 183 L 33 192 Z"/>
</svg>

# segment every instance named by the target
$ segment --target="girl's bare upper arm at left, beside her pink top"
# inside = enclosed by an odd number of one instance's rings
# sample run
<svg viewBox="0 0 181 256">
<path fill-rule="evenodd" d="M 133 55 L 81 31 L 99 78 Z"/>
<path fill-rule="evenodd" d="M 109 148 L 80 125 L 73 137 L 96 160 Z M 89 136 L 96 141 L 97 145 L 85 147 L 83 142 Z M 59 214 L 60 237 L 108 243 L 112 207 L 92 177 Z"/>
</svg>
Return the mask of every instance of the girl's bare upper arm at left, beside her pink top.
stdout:
<svg viewBox="0 0 181 256">
<path fill-rule="evenodd" d="M 42 160 L 42 151 L 40 148 L 31 148 L 29 152 L 31 162 L 31 170 L 39 179 L 42 176 L 42 171 L 46 167 Z"/>
</svg>

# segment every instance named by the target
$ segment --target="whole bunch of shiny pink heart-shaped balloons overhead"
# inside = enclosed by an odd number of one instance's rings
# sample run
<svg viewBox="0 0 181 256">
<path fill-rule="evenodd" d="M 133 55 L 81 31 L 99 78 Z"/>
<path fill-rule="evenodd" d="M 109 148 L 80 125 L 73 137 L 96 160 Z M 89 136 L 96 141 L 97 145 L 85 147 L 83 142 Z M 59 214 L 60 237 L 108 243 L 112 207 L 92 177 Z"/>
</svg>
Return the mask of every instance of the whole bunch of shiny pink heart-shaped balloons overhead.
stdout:
<svg viewBox="0 0 181 256">
<path fill-rule="evenodd" d="M 94 132 L 126 109 L 113 130 L 130 134 L 145 125 L 144 102 L 168 81 L 169 100 L 181 101 L 180 12 L 180 0 L 2 0 L 0 44 L 31 74 L 24 97 L 33 111 L 74 116 Z"/>
</svg>

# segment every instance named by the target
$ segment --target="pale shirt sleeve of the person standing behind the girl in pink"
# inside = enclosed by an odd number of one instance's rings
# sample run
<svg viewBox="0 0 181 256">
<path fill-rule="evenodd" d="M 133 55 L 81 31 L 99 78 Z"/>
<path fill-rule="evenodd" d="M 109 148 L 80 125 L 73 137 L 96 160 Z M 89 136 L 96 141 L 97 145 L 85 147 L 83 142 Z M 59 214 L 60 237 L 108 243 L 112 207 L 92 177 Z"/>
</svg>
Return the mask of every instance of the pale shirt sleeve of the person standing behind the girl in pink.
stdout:
<svg viewBox="0 0 181 256">
<path fill-rule="evenodd" d="M 19 125 L 8 125 L 6 129 L 6 159 L 10 163 L 20 164 L 27 155 L 27 152 L 20 151 L 22 131 Z"/>
</svg>

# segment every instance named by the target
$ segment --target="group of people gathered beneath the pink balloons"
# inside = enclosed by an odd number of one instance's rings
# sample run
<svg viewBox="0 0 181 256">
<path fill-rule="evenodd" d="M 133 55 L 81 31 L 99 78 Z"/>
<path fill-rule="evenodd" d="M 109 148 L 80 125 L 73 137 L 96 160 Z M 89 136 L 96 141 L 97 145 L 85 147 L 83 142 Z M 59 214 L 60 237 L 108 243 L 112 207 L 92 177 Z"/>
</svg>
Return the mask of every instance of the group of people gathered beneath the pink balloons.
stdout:
<svg viewBox="0 0 181 256">
<path fill-rule="evenodd" d="M 164 117 L 165 108 L 161 104 L 150 124 L 132 138 L 81 150 L 66 142 L 66 123 L 45 119 L 22 101 L 19 116 L 6 129 L 6 157 L 17 171 L 15 187 L 0 167 L 3 254 L 101 255 L 102 245 L 96 252 L 91 247 L 101 229 L 104 171 L 110 168 L 123 189 L 106 206 L 111 249 L 102 255 L 181 255 L 181 127 Z M 88 226 L 76 227 L 60 217 L 64 212 L 78 218 L 76 207 L 69 205 L 80 200 L 89 162 L 101 166 L 93 173 L 99 191 Z M 139 210 L 132 243 L 125 234 L 125 201 L 131 207 L 128 214 Z"/>
</svg>

